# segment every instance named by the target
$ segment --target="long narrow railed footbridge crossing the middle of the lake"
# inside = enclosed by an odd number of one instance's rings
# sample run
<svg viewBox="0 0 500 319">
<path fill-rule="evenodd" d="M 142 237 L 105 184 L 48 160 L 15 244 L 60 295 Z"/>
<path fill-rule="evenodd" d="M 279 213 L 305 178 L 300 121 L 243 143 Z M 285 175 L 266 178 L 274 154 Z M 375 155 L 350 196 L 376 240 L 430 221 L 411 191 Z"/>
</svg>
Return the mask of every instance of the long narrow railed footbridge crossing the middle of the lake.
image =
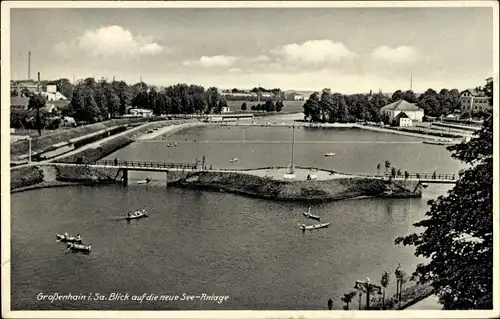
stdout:
<svg viewBox="0 0 500 319">
<path fill-rule="evenodd" d="M 166 162 L 150 162 L 150 161 L 122 161 L 122 160 L 102 160 L 94 163 L 76 163 L 76 164 L 56 164 L 55 165 L 84 165 L 92 168 L 107 168 L 107 169 L 118 169 L 118 174 L 122 173 L 122 183 L 124 186 L 128 184 L 128 172 L 129 171 L 147 171 L 147 172 L 165 172 L 172 171 L 211 171 L 211 172 L 233 172 L 233 173 L 251 173 L 251 171 L 258 170 L 272 170 L 272 169 L 285 169 L 287 167 L 264 167 L 264 168 L 213 168 L 207 167 L 204 161 L 198 161 L 195 164 L 188 163 L 166 163 Z M 338 178 L 339 175 L 345 176 L 346 178 L 373 178 L 373 179 L 383 179 L 383 180 L 393 180 L 393 181 L 416 181 L 417 186 L 422 184 L 455 184 L 458 181 L 458 174 L 438 174 L 434 173 L 406 173 L 406 175 L 395 175 L 390 174 L 384 175 L 368 175 L 368 174 L 349 174 L 341 173 L 331 169 L 321 169 L 313 167 L 300 167 L 296 166 L 298 169 L 308 169 L 315 170 L 318 172 L 326 172 L 329 175 L 335 175 Z"/>
</svg>

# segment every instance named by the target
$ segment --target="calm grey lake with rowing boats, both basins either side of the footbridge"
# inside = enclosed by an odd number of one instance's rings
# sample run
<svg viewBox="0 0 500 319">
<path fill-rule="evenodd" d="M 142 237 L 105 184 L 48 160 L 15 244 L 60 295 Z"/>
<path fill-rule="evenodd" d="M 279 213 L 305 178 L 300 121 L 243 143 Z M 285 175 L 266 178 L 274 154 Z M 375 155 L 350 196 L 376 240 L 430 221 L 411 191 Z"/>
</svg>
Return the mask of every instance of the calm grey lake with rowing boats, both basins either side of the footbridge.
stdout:
<svg viewBox="0 0 500 319">
<path fill-rule="evenodd" d="M 218 168 L 290 162 L 292 131 L 277 127 L 186 129 L 137 142 L 111 154 L 120 160 L 192 162 Z M 195 142 L 196 140 L 196 142 Z M 457 173 L 462 164 L 442 146 L 418 138 L 360 129 L 296 129 L 294 162 L 342 172 L 375 173 L 389 160 L 409 172 Z M 167 143 L 177 142 L 177 147 Z M 236 143 L 236 141 L 240 141 Z M 241 143 L 245 141 L 245 143 Z M 283 141 L 283 142 L 280 142 Z M 326 152 L 337 156 L 328 158 Z M 237 163 L 229 160 L 238 157 Z M 132 175 L 132 174 L 131 174 Z M 332 224 L 303 233 L 303 204 L 151 185 L 64 187 L 14 193 L 12 199 L 13 309 L 335 309 L 355 280 L 378 283 L 398 263 L 411 273 L 422 262 L 398 236 L 418 231 L 427 200 L 450 185 L 430 185 L 421 199 L 365 199 L 323 203 L 312 213 Z M 148 218 L 127 222 L 127 211 Z M 56 233 L 80 233 L 89 255 L 65 252 Z M 389 292 L 395 290 L 394 276 Z M 50 301 L 40 293 L 227 295 L 215 301 Z M 364 304 L 364 301 L 363 301 Z M 351 308 L 357 308 L 354 301 Z"/>
</svg>

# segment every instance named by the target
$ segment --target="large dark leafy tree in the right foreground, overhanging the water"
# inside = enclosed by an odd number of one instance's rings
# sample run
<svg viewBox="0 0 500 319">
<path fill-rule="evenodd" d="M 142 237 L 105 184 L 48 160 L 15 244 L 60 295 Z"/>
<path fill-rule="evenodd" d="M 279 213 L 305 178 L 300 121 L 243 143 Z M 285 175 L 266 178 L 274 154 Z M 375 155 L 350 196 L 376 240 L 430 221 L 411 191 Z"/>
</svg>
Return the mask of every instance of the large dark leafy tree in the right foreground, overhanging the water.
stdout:
<svg viewBox="0 0 500 319">
<path fill-rule="evenodd" d="M 396 239 L 431 258 L 416 267 L 420 283 L 432 283 L 443 308 L 493 307 L 493 116 L 467 143 L 449 146 L 452 157 L 470 165 L 447 196 L 429 201 L 425 230 Z"/>
</svg>

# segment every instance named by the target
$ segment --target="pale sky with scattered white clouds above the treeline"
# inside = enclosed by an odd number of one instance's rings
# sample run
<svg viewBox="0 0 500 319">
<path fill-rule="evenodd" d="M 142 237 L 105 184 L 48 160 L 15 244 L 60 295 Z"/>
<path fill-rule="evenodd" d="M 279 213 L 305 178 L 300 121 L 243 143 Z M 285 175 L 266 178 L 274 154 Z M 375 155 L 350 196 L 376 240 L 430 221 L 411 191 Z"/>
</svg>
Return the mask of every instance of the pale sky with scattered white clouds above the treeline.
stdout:
<svg viewBox="0 0 500 319">
<path fill-rule="evenodd" d="M 29 21 L 29 23 L 27 23 Z M 493 8 L 12 9 L 11 79 L 365 93 L 493 74 Z"/>
</svg>

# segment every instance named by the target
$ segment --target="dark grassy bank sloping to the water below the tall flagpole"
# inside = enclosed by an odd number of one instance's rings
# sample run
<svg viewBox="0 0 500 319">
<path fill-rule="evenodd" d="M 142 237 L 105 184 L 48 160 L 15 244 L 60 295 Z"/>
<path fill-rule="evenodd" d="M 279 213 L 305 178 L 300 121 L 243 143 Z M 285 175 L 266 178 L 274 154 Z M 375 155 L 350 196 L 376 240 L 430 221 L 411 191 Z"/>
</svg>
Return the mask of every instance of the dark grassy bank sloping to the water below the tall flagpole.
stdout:
<svg viewBox="0 0 500 319">
<path fill-rule="evenodd" d="M 250 174 L 208 171 L 189 173 L 173 184 L 282 201 L 334 201 L 363 196 L 421 196 L 419 189 L 413 192 L 415 183 L 410 182 L 403 187 L 382 180 L 365 178 L 288 182 Z"/>
</svg>

